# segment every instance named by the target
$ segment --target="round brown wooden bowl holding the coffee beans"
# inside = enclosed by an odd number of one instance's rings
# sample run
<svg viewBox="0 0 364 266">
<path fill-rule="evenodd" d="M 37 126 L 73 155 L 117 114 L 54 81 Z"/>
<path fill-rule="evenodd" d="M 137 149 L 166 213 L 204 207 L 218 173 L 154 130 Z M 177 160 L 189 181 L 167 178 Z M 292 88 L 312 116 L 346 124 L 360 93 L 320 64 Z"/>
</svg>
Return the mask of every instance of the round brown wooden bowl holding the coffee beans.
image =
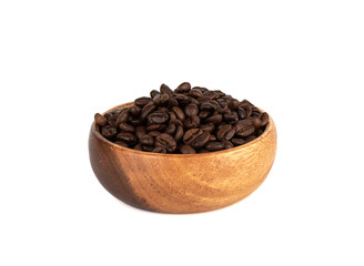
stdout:
<svg viewBox="0 0 364 266">
<path fill-rule="evenodd" d="M 118 105 L 107 112 L 133 105 Z M 94 174 L 113 196 L 160 213 L 199 213 L 234 204 L 255 191 L 275 157 L 272 119 L 264 133 L 230 150 L 202 154 L 135 151 L 104 139 L 93 123 L 89 153 Z"/>
</svg>

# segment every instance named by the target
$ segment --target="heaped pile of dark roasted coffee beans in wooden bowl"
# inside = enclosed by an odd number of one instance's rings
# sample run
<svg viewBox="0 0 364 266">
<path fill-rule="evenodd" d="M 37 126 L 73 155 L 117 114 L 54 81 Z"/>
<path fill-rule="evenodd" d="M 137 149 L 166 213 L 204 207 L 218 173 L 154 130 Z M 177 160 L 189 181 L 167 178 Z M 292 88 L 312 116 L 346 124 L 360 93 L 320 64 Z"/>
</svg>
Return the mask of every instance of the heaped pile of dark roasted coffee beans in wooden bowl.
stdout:
<svg viewBox="0 0 364 266">
<path fill-rule="evenodd" d="M 97 113 L 101 134 L 121 146 L 154 153 L 206 153 L 255 140 L 269 122 L 249 101 L 237 101 L 222 91 L 191 88 L 175 90 L 162 84 L 134 106 Z"/>
</svg>

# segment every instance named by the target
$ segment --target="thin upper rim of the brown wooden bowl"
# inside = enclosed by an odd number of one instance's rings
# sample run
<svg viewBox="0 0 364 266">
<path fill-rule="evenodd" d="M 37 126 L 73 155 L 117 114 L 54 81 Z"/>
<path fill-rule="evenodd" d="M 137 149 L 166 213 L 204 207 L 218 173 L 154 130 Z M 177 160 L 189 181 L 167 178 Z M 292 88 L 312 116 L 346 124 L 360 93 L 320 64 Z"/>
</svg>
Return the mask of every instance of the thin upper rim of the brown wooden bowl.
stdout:
<svg viewBox="0 0 364 266">
<path fill-rule="evenodd" d="M 109 113 L 111 111 L 114 110 L 120 110 L 123 108 L 130 108 L 130 106 L 134 106 L 134 102 L 129 102 L 129 103 L 123 103 L 123 104 L 119 104 L 112 109 L 109 109 L 108 111 L 103 112 L 102 115 L 104 115 L 105 113 Z M 262 112 L 264 112 L 262 109 L 260 109 Z M 130 147 L 124 147 L 121 145 L 118 145 L 111 141 L 109 141 L 108 139 L 105 139 L 100 131 L 97 129 L 97 124 L 93 121 L 92 125 L 91 125 L 91 133 L 99 139 L 100 141 L 107 143 L 108 145 L 111 145 L 113 149 L 120 150 L 121 152 L 129 152 L 129 153 L 135 153 L 135 154 L 140 154 L 140 155 L 145 155 L 145 156 L 166 156 L 166 157 L 200 157 L 201 156 L 214 156 L 214 155 L 219 155 L 219 154 L 230 154 L 230 153 L 234 153 L 236 151 L 241 151 L 241 150 L 246 150 L 250 146 L 256 144 L 257 142 L 261 142 L 262 140 L 266 139 L 269 134 L 272 133 L 273 129 L 275 127 L 274 122 L 272 116 L 270 115 L 269 122 L 266 124 L 265 131 L 263 132 L 262 135 L 257 136 L 255 140 L 242 144 L 240 146 L 235 146 L 235 147 L 231 147 L 228 150 L 222 150 L 222 151 L 215 151 L 215 152 L 209 152 L 209 153 L 194 153 L 194 154 L 179 154 L 179 153 L 153 153 L 153 152 L 145 152 L 145 151 L 138 151 L 138 150 L 133 150 Z"/>
</svg>

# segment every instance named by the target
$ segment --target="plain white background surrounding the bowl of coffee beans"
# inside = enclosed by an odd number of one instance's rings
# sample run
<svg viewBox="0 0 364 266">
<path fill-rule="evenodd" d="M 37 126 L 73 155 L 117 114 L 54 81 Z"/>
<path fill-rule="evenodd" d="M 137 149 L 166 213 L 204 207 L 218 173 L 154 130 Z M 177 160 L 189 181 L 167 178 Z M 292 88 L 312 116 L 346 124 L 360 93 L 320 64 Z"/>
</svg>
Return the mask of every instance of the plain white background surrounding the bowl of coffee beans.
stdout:
<svg viewBox="0 0 364 266">
<path fill-rule="evenodd" d="M 246 200 L 139 211 L 95 178 L 95 112 L 161 83 L 275 120 Z M 364 265 L 363 1 L 1 1 L 0 265 Z"/>
</svg>

